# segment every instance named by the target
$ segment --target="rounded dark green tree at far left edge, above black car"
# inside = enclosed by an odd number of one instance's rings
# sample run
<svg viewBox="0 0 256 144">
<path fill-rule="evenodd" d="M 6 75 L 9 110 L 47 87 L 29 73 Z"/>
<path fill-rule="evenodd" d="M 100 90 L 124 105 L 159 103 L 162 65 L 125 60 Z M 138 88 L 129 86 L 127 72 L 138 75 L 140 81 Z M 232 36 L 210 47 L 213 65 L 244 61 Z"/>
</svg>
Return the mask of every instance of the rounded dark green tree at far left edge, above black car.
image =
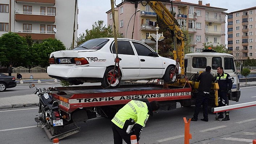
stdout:
<svg viewBox="0 0 256 144">
<path fill-rule="evenodd" d="M 0 37 L 0 63 L 3 65 L 21 66 L 26 61 L 28 44 L 26 39 L 14 32 Z"/>
</svg>

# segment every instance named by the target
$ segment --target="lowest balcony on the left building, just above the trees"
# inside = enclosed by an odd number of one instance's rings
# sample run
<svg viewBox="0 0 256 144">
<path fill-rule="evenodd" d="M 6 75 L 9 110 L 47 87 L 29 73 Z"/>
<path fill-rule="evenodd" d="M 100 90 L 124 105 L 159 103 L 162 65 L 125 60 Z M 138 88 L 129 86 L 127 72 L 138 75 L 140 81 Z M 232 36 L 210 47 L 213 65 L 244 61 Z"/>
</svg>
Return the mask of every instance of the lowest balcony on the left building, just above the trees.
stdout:
<svg viewBox="0 0 256 144">
<path fill-rule="evenodd" d="M 20 36 L 31 35 L 31 38 L 36 40 L 55 38 L 54 31 L 15 30 L 15 33 L 17 33 Z"/>
</svg>

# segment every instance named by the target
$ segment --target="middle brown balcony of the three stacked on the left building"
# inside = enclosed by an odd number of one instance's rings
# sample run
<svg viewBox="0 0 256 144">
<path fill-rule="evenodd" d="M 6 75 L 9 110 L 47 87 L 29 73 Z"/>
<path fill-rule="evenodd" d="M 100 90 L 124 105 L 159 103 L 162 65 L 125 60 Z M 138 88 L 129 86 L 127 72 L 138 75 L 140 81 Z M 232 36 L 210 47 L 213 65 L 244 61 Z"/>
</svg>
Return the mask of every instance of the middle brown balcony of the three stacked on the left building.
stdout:
<svg viewBox="0 0 256 144">
<path fill-rule="evenodd" d="M 55 22 L 55 13 L 15 11 L 16 21 Z"/>
</svg>

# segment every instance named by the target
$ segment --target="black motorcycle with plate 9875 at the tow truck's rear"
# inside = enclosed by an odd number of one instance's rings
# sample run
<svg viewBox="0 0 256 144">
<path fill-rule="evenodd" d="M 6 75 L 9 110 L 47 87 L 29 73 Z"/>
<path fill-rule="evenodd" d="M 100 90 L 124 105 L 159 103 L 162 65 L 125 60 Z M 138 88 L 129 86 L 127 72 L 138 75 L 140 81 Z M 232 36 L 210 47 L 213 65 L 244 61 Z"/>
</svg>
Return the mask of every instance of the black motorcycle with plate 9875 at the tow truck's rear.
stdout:
<svg viewBox="0 0 256 144">
<path fill-rule="evenodd" d="M 35 84 L 30 84 L 29 88 L 35 87 Z M 41 123 L 42 128 L 47 128 L 50 130 L 51 135 L 58 135 L 60 133 L 60 126 L 63 126 L 63 119 L 59 109 L 58 101 L 55 101 L 52 97 L 51 90 L 57 90 L 56 87 L 50 88 L 37 88 L 35 87 L 35 91 L 33 92 L 35 95 L 39 97 L 39 115 L 36 115 L 35 121 L 37 123 Z M 58 91 L 60 92 L 60 91 Z"/>
</svg>

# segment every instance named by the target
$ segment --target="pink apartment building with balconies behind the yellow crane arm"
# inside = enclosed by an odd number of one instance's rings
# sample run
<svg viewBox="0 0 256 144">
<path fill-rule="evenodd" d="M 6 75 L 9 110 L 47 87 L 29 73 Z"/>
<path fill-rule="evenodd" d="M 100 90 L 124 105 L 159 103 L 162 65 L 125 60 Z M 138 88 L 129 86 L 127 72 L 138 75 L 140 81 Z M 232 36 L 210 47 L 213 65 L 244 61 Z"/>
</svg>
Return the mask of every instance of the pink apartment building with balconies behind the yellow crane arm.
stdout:
<svg viewBox="0 0 256 144">
<path fill-rule="evenodd" d="M 171 11 L 171 3 L 163 3 L 167 9 Z M 157 14 L 146 5 L 146 2 L 138 4 L 139 12 L 135 14 L 135 5 L 123 2 L 117 6 L 115 12 L 118 21 L 118 31 L 123 34 L 123 38 L 132 38 L 133 23 L 134 33 L 133 39 L 140 40 L 155 49 L 156 42 L 146 39 L 149 34 L 156 34 L 156 18 Z M 188 31 L 188 37 L 191 39 L 190 51 L 200 52 L 203 43 L 212 43 L 213 46 L 225 45 L 225 16 L 227 9 L 210 6 L 210 4 L 202 5 L 199 0 L 198 4 L 187 3 L 181 0 L 173 1 L 173 10 L 176 13 L 175 18 L 179 22 L 180 28 Z M 112 26 L 111 10 L 107 11 L 107 25 Z M 135 21 L 134 21 L 135 16 Z"/>
</svg>

